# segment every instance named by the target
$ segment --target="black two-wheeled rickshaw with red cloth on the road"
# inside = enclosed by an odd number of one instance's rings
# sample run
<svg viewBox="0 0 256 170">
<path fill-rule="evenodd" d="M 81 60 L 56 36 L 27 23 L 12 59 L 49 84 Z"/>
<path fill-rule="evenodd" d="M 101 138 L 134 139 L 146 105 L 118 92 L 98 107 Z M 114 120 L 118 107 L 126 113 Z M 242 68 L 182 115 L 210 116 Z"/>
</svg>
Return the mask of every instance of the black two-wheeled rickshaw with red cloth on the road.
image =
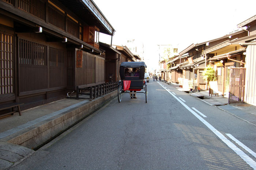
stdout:
<svg viewBox="0 0 256 170">
<path fill-rule="evenodd" d="M 146 64 L 144 62 L 122 62 L 120 65 L 120 78 L 121 80 L 118 82 L 118 90 L 117 97 L 118 102 L 121 102 L 122 93 L 144 93 L 146 97 L 147 103 L 147 82 L 144 80 L 145 68 Z M 139 68 L 139 76 L 125 76 L 125 68 Z M 143 89 L 143 92 L 140 92 Z M 130 92 L 128 92 L 128 90 Z M 132 92 L 136 91 L 136 92 Z M 131 97 L 132 98 L 132 97 Z"/>
</svg>

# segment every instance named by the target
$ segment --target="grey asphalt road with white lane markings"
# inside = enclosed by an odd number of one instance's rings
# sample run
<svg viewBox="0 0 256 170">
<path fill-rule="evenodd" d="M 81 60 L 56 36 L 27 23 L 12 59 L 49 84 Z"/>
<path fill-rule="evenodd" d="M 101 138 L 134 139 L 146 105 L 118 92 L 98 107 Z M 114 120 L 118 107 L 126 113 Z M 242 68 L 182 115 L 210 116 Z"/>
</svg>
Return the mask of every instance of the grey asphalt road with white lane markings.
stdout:
<svg viewBox="0 0 256 170">
<path fill-rule="evenodd" d="M 161 84 L 150 79 L 148 103 L 123 93 L 12 169 L 256 169 L 255 126 Z"/>
</svg>

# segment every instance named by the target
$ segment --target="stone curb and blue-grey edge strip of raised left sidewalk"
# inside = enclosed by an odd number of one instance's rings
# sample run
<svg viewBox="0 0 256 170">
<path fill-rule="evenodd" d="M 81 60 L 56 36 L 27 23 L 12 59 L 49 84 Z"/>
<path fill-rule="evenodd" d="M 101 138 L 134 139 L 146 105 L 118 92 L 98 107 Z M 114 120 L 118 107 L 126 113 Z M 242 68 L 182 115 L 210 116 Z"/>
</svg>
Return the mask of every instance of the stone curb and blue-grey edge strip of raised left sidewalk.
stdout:
<svg viewBox="0 0 256 170">
<path fill-rule="evenodd" d="M 78 123 L 86 116 L 89 116 L 116 96 L 117 92 L 115 90 L 114 92 L 98 97 L 93 101 L 79 100 L 79 103 L 77 104 L 73 104 L 59 111 L 39 117 L 38 119 L 0 133 L 0 142 L 8 142 L 30 149 L 36 149 L 65 131 L 67 128 Z"/>
</svg>

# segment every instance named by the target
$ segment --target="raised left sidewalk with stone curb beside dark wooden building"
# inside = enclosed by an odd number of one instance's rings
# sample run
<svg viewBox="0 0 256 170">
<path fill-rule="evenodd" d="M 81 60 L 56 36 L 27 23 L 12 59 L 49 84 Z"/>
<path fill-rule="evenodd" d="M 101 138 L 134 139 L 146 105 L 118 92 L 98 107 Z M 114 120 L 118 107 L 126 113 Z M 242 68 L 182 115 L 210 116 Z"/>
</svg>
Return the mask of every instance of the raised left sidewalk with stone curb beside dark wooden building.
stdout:
<svg viewBox="0 0 256 170">
<path fill-rule="evenodd" d="M 113 91 L 95 100 L 65 98 L 0 119 L 0 170 L 15 166 L 67 128 L 117 96 Z"/>
</svg>

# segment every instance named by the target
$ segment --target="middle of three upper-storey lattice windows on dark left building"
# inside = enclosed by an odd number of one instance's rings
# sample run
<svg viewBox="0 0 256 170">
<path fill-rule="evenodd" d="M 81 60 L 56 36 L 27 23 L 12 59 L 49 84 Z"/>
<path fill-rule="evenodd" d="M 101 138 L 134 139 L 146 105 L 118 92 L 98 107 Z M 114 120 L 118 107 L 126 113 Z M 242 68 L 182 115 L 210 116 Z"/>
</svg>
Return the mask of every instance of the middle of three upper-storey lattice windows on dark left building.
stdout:
<svg viewBox="0 0 256 170">
<path fill-rule="evenodd" d="M 65 31 L 65 14 L 50 5 L 48 7 L 48 22 Z"/>
</svg>

